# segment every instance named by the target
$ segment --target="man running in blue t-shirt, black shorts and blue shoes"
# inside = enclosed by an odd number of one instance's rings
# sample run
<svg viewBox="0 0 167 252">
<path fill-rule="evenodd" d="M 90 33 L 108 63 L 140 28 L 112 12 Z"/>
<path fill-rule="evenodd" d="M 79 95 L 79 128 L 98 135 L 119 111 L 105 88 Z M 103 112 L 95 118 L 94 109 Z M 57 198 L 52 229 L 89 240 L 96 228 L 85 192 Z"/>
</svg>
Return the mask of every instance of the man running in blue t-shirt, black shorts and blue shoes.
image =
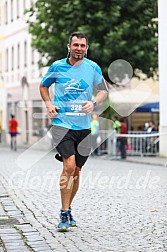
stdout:
<svg viewBox="0 0 167 252">
<path fill-rule="evenodd" d="M 52 118 L 52 136 L 63 170 L 60 176 L 61 212 L 59 231 L 76 226 L 71 204 L 78 191 L 79 176 L 91 150 L 91 113 L 102 103 L 108 88 L 100 67 L 85 58 L 88 40 L 83 33 L 70 35 L 68 55 L 53 62 L 40 85 L 49 118 Z M 54 102 L 49 87 L 54 84 Z M 92 100 L 93 88 L 97 95 Z"/>
</svg>

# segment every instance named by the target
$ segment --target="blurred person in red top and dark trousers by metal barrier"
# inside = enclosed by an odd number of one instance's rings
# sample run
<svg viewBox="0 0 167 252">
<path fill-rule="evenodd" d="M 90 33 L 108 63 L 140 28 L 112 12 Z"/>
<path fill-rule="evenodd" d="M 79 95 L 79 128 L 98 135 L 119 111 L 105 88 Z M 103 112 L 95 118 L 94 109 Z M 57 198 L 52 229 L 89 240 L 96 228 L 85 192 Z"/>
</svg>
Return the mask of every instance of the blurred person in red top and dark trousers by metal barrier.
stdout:
<svg viewBox="0 0 167 252">
<path fill-rule="evenodd" d="M 120 134 L 127 134 L 127 124 L 125 122 L 125 119 L 121 118 L 120 123 L 121 123 Z M 120 137 L 121 159 L 126 159 L 126 144 L 127 144 L 127 138 L 126 137 Z"/>
</svg>

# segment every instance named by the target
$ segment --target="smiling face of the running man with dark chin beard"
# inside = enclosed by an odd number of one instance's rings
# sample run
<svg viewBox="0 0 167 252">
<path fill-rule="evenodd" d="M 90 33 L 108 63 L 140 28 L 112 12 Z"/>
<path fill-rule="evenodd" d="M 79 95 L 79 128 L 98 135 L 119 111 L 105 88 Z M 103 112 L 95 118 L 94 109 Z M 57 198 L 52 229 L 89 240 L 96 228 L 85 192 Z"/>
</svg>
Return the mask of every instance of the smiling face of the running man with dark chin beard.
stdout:
<svg viewBox="0 0 167 252">
<path fill-rule="evenodd" d="M 86 39 L 77 38 L 76 36 L 72 38 L 72 42 L 68 44 L 68 47 L 70 49 L 70 57 L 77 61 L 83 59 L 88 49 Z"/>
</svg>

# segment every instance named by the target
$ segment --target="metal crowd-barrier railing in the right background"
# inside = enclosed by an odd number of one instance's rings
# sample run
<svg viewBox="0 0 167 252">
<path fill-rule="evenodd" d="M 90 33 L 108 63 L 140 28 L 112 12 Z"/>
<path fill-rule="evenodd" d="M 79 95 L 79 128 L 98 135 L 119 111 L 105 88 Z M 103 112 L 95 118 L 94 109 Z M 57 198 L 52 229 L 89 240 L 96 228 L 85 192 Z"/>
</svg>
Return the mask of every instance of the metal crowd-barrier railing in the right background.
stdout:
<svg viewBox="0 0 167 252">
<path fill-rule="evenodd" d="M 117 142 L 119 138 L 126 138 L 126 152 L 131 156 L 158 156 L 159 155 L 159 134 L 154 132 L 148 134 L 143 131 L 129 131 L 128 134 L 116 134 L 114 130 L 101 130 L 98 141 L 99 155 L 108 154 L 119 156 Z"/>
</svg>

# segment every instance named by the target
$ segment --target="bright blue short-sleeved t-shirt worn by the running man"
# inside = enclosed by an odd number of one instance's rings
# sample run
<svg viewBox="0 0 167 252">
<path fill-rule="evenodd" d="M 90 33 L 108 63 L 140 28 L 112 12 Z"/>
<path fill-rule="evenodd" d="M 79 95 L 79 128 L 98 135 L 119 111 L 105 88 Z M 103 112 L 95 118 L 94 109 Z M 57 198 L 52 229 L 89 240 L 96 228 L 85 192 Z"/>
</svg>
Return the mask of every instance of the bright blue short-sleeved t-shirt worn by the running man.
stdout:
<svg viewBox="0 0 167 252">
<path fill-rule="evenodd" d="M 67 58 L 55 61 L 42 79 L 42 86 L 54 87 L 54 105 L 58 106 L 58 115 L 52 125 L 68 129 L 90 129 L 90 114 L 82 111 L 84 101 L 91 101 L 93 87 L 102 83 L 100 67 L 93 61 L 83 58 L 82 63 L 72 66 Z"/>
</svg>

